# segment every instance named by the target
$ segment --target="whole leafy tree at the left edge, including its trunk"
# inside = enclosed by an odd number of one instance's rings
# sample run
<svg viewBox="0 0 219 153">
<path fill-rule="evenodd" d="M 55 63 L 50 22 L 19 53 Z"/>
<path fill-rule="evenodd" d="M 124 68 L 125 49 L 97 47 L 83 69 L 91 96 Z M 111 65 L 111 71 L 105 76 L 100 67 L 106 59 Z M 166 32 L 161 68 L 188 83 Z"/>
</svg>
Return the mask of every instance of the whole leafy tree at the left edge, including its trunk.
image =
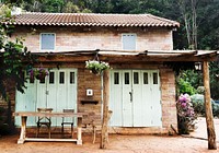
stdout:
<svg viewBox="0 0 219 153">
<path fill-rule="evenodd" d="M 9 130 L 13 131 L 11 99 L 15 90 L 24 92 L 25 79 L 23 72 L 33 64 L 34 60 L 27 48 L 23 46 L 22 39 L 12 42 L 9 39 L 12 27 L 4 22 L 10 22 L 11 12 L 7 5 L 1 5 L 0 10 L 0 94 L 8 103 Z"/>
</svg>

